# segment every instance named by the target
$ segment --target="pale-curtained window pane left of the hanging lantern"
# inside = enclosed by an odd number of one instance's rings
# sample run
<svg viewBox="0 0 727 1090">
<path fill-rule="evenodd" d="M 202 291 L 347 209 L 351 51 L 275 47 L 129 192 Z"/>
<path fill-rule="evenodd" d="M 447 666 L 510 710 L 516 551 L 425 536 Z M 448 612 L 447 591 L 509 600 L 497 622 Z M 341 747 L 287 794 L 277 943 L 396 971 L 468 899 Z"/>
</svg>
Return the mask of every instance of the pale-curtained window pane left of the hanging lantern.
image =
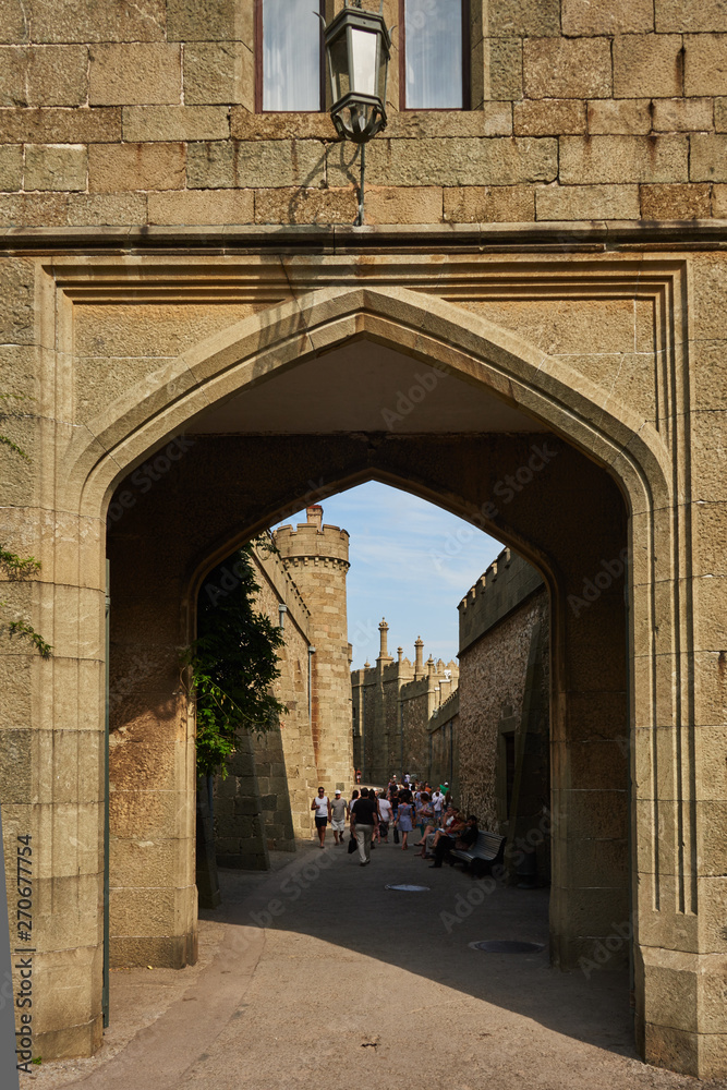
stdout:
<svg viewBox="0 0 727 1090">
<path fill-rule="evenodd" d="M 323 93 L 323 0 L 256 0 L 258 111 L 318 111 Z"/>
</svg>

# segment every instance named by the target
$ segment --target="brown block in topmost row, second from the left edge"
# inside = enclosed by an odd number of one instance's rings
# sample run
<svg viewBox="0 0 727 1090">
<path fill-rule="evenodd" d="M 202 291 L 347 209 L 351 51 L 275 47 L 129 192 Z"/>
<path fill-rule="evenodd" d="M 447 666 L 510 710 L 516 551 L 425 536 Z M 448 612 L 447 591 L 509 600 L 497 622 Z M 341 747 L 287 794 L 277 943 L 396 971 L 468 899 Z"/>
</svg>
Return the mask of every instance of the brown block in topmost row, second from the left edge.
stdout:
<svg viewBox="0 0 727 1090">
<path fill-rule="evenodd" d="M 158 41 L 163 36 L 165 0 L 33 0 L 36 41 Z"/>
</svg>

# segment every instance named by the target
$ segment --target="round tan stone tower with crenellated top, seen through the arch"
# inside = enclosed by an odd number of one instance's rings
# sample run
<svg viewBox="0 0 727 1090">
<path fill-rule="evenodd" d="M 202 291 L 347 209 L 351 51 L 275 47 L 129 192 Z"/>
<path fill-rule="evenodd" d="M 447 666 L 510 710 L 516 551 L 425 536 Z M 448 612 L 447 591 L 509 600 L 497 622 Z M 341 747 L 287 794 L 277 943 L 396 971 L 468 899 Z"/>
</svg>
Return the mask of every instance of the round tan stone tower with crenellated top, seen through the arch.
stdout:
<svg viewBox="0 0 727 1090">
<path fill-rule="evenodd" d="M 295 530 L 277 530 L 275 542 L 311 611 L 313 743 L 318 783 L 332 796 L 337 787 L 350 791 L 354 779 L 346 610 L 349 535 L 338 526 L 324 526 L 317 504 L 307 508 L 306 516 L 307 522 Z"/>
</svg>

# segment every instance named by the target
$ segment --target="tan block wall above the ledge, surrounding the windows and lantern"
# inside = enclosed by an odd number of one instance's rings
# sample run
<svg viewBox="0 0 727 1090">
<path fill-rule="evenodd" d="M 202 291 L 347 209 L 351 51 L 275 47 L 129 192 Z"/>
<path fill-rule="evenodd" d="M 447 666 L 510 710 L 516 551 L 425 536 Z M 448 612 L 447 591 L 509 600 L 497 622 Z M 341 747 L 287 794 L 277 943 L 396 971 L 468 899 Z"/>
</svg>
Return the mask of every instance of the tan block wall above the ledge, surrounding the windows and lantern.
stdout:
<svg viewBox="0 0 727 1090">
<path fill-rule="evenodd" d="M 471 7 L 467 112 L 398 111 L 395 32 L 369 223 L 725 217 L 720 8 Z M 254 112 L 253 0 L 4 0 L 0 43 L 0 226 L 355 218 L 327 113 Z"/>
</svg>

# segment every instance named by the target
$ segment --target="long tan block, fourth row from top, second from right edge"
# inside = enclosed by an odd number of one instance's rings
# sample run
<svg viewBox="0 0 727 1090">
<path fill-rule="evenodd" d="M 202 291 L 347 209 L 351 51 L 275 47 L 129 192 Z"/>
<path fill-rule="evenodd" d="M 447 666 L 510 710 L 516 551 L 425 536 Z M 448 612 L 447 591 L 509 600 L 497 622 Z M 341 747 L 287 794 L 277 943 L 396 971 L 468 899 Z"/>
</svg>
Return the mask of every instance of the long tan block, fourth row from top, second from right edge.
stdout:
<svg viewBox="0 0 727 1090">
<path fill-rule="evenodd" d="M 688 181 L 686 136 L 564 136 L 564 184 Z"/>
</svg>

